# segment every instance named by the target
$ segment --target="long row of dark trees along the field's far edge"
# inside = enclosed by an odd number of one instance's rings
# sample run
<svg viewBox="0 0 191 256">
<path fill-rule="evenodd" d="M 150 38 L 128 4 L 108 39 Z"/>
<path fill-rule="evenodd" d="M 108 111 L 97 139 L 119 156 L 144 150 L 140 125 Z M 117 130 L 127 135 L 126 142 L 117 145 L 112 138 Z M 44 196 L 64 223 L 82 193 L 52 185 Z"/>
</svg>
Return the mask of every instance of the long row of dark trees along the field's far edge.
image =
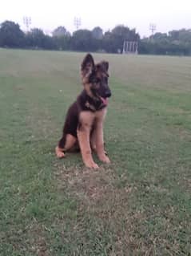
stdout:
<svg viewBox="0 0 191 256">
<path fill-rule="evenodd" d="M 191 29 L 155 33 L 141 39 L 135 29 L 123 25 L 105 33 L 97 26 L 93 30 L 76 30 L 72 35 L 65 26 L 58 26 L 51 36 L 39 28 L 25 33 L 12 21 L 0 25 L 0 47 L 121 53 L 124 40 L 137 41 L 140 54 L 191 55 Z"/>
</svg>

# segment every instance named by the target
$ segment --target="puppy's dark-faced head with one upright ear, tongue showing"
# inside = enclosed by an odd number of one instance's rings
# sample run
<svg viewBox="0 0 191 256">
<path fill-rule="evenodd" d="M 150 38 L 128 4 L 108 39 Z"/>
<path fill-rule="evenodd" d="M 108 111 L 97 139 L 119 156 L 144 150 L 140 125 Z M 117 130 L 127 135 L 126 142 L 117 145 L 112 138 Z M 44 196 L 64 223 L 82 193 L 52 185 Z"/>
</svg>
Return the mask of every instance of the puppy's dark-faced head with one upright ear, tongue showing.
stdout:
<svg viewBox="0 0 191 256">
<path fill-rule="evenodd" d="M 87 54 L 81 65 L 82 83 L 90 97 L 101 100 L 104 104 L 111 96 L 108 85 L 109 63 L 101 61 L 95 64 L 92 55 Z"/>
</svg>

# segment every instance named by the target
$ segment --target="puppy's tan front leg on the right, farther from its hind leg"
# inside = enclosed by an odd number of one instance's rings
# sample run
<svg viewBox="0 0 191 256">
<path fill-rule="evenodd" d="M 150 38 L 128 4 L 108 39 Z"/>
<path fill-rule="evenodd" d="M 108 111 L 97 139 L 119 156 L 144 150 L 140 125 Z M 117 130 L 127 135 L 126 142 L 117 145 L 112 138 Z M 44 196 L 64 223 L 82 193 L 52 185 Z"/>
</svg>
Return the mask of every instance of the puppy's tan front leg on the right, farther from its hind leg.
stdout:
<svg viewBox="0 0 191 256">
<path fill-rule="evenodd" d="M 100 161 L 109 164 L 109 157 L 105 155 L 105 149 L 104 149 L 104 140 L 103 140 L 103 123 L 97 122 L 96 128 L 95 128 L 95 134 L 96 134 L 96 152 L 97 156 Z"/>
</svg>

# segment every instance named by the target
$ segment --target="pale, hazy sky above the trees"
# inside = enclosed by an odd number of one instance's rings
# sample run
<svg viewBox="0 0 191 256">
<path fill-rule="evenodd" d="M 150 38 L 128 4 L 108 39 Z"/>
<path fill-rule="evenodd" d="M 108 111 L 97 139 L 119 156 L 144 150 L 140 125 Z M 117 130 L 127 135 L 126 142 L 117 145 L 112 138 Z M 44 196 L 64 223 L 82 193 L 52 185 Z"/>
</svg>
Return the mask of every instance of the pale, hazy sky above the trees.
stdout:
<svg viewBox="0 0 191 256">
<path fill-rule="evenodd" d="M 38 27 L 46 33 L 58 26 L 73 32 L 74 17 L 81 18 L 81 29 L 92 30 L 100 26 L 104 31 L 114 26 L 136 28 L 141 37 L 151 34 L 149 24 L 156 25 L 155 32 L 191 28 L 190 0 L 6 0 L 0 4 L 0 23 L 18 22 L 22 30 L 23 17 L 31 18 L 30 28 Z"/>
</svg>

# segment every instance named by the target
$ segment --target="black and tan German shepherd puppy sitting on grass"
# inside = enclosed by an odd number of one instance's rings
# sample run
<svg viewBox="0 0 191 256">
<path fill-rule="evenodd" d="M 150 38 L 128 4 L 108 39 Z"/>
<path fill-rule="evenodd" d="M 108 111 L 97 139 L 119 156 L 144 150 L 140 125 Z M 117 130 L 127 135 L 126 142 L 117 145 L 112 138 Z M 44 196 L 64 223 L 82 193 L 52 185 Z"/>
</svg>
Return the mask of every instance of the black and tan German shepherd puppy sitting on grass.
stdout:
<svg viewBox="0 0 191 256">
<path fill-rule="evenodd" d="M 109 63 L 95 64 L 92 55 L 87 54 L 81 65 L 84 89 L 67 112 L 61 140 L 55 148 L 58 158 L 65 156 L 78 145 L 86 167 L 97 169 L 92 149 L 100 161 L 109 163 L 105 155 L 103 140 L 103 121 L 111 91 L 108 86 Z"/>
</svg>

